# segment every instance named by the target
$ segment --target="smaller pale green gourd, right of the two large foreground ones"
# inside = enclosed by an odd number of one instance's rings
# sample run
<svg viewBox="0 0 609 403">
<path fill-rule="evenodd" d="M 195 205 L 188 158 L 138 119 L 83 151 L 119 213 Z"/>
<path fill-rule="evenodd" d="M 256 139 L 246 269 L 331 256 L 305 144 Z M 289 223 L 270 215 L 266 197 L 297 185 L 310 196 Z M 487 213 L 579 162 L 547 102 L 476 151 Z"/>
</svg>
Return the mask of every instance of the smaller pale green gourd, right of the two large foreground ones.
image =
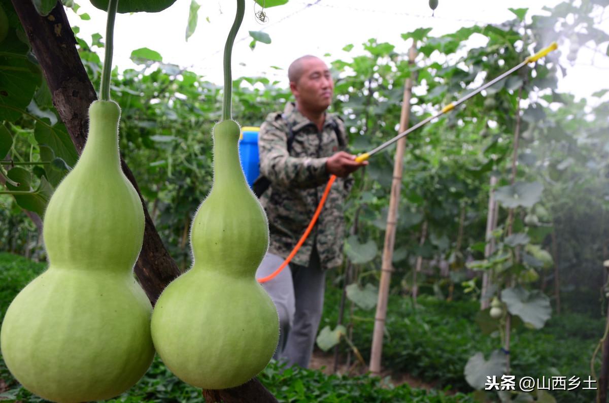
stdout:
<svg viewBox="0 0 609 403">
<path fill-rule="evenodd" d="M 255 377 L 279 337 L 275 306 L 255 279 L 269 226 L 239 164 L 239 132 L 234 121 L 214 128 L 214 184 L 191 228 L 194 264 L 167 286 L 152 314 L 165 365 L 204 389 Z"/>
</svg>

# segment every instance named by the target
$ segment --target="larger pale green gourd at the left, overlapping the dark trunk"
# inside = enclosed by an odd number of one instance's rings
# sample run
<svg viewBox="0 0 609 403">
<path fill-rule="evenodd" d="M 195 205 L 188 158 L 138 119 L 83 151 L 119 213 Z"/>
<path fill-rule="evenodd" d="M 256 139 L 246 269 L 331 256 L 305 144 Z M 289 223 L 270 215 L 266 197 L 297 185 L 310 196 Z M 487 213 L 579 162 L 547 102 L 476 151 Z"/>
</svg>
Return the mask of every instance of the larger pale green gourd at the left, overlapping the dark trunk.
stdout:
<svg viewBox="0 0 609 403">
<path fill-rule="evenodd" d="M 133 277 L 144 235 L 138 194 L 121 172 L 119 106 L 91 104 L 88 139 L 44 216 L 49 268 L 13 300 L 0 343 L 28 390 L 57 402 L 109 399 L 152 362 L 152 306 Z"/>
</svg>

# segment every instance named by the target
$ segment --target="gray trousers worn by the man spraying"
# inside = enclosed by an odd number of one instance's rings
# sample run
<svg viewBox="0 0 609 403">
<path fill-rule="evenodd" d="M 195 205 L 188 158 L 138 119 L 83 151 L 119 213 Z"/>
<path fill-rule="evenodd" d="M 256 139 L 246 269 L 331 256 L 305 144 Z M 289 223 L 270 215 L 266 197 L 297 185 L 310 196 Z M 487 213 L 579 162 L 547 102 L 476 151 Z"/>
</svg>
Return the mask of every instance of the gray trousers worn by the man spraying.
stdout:
<svg viewBox="0 0 609 403">
<path fill-rule="evenodd" d="M 275 272 L 283 261 L 280 256 L 267 253 L 256 278 Z M 262 283 L 279 314 L 279 345 L 273 356 L 276 360 L 308 368 L 322 318 L 325 278 L 314 248 L 308 267 L 289 264 L 275 278 Z"/>
</svg>

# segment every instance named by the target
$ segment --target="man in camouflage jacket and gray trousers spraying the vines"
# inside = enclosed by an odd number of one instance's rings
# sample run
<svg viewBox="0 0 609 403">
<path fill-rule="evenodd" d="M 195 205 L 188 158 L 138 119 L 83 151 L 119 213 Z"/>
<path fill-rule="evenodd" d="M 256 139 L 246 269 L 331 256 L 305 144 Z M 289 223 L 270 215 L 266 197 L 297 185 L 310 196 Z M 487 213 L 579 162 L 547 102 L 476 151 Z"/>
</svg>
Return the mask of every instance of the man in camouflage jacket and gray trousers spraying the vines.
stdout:
<svg viewBox="0 0 609 403">
<path fill-rule="evenodd" d="M 280 316 L 276 359 L 308 367 L 322 316 L 325 270 L 342 262 L 343 205 L 353 180 L 348 175 L 367 164 L 344 150 L 343 121 L 326 113 L 334 83 L 328 66 L 306 55 L 288 69 L 295 103 L 271 113 L 258 138 L 260 171 L 270 180 L 261 202 L 269 219 L 269 252 L 256 277 L 274 272 L 305 232 L 330 175 L 338 178 L 314 230 L 289 267 L 264 283 Z"/>
</svg>

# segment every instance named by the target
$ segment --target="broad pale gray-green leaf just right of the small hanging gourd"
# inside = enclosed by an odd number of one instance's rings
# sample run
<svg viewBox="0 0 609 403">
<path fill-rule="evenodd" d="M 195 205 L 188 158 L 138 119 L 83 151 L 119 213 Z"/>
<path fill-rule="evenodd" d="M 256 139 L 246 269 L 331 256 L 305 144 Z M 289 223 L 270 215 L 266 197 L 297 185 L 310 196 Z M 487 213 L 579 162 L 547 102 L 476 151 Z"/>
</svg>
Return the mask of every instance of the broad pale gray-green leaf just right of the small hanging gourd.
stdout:
<svg viewBox="0 0 609 403">
<path fill-rule="evenodd" d="M 539 290 L 527 291 L 522 287 L 502 290 L 501 300 L 510 314 L 519 316 L 535 329 L 543 328 L 552 314 L 550 300 Z"/>
</svg>

